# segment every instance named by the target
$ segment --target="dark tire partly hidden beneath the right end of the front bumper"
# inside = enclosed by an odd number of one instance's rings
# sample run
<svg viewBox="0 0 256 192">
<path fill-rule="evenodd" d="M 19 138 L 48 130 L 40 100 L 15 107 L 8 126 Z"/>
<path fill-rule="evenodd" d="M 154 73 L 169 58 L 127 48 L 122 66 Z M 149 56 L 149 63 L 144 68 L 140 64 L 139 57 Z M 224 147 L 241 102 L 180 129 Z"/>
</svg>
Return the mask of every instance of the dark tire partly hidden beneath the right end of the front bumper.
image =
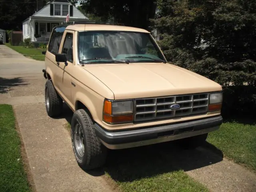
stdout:
<svg viewBox="0 0 256 192">
<path fill-rule="evenodd" d="M 184 149 L 195 149 L 205 143 L 207 136 L 208 133 L 180 139 L 178 140 L 178 144 Z"/>
</svg>

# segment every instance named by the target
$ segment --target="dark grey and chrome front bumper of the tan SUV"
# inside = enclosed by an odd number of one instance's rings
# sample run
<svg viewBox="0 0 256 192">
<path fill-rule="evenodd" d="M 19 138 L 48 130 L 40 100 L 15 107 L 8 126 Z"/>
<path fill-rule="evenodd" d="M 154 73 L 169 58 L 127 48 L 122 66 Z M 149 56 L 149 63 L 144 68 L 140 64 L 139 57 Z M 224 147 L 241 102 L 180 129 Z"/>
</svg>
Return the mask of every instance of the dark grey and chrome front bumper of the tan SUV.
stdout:
<svg viewBox="0 0 256 192">
<path fill-rule="evenodd" d="M 108 132 L 98 124 L 95 124 L 95 131 L 98 138 L 107 148 L 124 149 L 209 133 L 218 130 L 222 122 L 222 116 L 216 116 L 120 132 Z"/>
</svg>

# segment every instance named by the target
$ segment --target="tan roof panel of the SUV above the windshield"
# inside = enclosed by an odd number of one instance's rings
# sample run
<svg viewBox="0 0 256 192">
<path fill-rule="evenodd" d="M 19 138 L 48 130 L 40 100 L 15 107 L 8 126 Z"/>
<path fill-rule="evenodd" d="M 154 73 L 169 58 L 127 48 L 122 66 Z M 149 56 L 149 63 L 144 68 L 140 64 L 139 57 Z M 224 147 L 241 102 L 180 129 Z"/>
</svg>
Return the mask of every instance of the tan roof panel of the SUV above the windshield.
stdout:
<svg viewBox="0 0 256 192">
<path fill-rule="evenodd" d="M 74 24 L 74 25 L 68 25 L 66 27 L 66 30 L 74 30 L 74 31 L 131 31 L 131 32 L 150 33 L 147 30 L 135 28 L 135 27 L 104 25 L 104 24 Z"/>
</svg>

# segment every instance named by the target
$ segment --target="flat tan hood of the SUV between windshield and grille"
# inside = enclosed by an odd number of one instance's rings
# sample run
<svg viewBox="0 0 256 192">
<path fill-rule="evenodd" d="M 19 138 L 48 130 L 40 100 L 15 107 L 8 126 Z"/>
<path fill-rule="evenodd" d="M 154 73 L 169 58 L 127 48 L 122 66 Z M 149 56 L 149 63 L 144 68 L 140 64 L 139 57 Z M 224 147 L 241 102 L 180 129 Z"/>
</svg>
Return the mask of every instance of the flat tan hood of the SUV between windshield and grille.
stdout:
<svg viewBox="0 0 256 192">
<path fill-rule="evenodd" d="M 222 90 L 216 82 L 172 64 L 94 64 L 83 68 L 112 90 L 115 100 Z"/>
</svg>

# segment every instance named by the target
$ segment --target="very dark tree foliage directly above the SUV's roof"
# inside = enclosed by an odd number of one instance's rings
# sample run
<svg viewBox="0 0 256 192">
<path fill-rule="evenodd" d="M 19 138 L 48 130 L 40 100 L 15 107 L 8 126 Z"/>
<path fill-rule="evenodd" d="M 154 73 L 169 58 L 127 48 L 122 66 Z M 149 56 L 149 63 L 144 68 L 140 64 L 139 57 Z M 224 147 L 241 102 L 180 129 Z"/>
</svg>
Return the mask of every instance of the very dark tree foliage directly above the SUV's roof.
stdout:
<svg viewBox="0 0 256 192">
<path fill-rule="evenodd" d="M 150 18 L 154 18 L 156 0 L 82 0 L 86 13 L 94 14 L 102 21 L 113 20 L 126 26 L 147 29 Z"/>
</svg>

